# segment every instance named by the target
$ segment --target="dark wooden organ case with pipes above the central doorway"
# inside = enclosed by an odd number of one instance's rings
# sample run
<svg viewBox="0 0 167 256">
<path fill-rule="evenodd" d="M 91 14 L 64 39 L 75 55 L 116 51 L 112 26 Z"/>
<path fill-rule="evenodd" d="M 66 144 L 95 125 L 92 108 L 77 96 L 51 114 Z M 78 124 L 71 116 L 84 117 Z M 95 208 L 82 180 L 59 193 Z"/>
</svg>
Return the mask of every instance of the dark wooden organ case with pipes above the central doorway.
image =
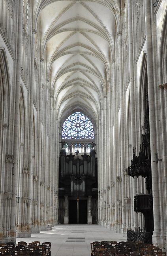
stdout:
<svg viewBox="0 0 167 256">
<path fill-rule="evenodd" d="M 59 223 L 87 224 L 98 222 L 98 172 L 96 151 L 90 154 L 69 152 L 63 148 L 59 158 Z"/>
</svg>

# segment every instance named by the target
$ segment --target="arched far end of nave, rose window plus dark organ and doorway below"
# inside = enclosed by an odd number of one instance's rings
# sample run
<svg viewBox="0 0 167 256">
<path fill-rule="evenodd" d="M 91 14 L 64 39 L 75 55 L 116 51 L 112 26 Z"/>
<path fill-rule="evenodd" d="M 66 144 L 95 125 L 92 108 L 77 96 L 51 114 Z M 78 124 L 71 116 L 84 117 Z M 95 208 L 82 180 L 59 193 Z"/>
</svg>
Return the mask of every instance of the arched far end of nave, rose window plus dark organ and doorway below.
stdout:
<svg viewBox="0 0 167 256">
<path fill-rule="evenodd" d="M 64 121 L 59 157 L 60 224 L 98 222 L 98 172 L 94 126 L 81 112 Z"/>
</svg>

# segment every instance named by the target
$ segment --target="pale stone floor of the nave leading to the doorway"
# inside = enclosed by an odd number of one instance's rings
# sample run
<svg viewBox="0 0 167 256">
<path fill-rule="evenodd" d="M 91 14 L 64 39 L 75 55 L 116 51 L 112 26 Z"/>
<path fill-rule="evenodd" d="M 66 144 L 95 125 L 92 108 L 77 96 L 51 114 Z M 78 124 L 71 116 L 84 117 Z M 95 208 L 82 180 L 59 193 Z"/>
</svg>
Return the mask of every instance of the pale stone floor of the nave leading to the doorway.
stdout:
<svg viewBox="0 0 167 256">
<path fill-rule="evenodd" d="M 57 225 L 52 230 L 32 234 L 18 241 L 51 242 L 51 256 L 90 256 L 93 241 L 127 241 L 122 234 L 98 225 Z"/>
</svg>

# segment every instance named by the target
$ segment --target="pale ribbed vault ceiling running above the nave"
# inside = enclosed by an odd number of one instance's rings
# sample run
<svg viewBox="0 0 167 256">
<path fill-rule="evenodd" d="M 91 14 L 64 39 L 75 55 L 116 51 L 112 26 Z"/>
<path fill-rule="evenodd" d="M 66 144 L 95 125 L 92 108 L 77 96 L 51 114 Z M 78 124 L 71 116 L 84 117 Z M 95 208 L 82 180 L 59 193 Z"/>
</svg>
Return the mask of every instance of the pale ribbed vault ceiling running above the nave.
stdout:
<svg viewBox="0 0 167 256">
<path fill-rule="evenodd" d="M 110 80 L 120 0 L 36 0 L 34 5 L 58 118 L 81 110 L 96 122 Z"/>
</svg>

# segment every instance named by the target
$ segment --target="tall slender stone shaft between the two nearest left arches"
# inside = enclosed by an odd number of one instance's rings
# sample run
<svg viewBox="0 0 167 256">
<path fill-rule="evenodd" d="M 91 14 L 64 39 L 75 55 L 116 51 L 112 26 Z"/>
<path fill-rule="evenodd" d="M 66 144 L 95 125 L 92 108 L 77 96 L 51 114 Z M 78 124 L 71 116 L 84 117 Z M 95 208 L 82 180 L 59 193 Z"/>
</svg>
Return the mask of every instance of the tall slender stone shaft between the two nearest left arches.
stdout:
<svg viewBox="0 0 167 256">
<path fill-rule="evenodd" d="M 15 84 L 15 110 L 14 110 L 14 142 L 13 142 L 13 155 L 15 157 L 15 164 L 12 167 L 12 198 L 11 198 L 11 227 L 10 227 L 10 241 L 16 241 L 16 192 L 17 192 L 17 172 L 18 172 L 18 142 L 19 142 L 19 104 L 20 104 L 20 79 L 21 79 L 21 47 L 22 47 L 22 25 L 23 20 L 23 1 L 19 1 L 18 11 L 18 34 L 17 34 L 17 57 L 16 57 L 16 84 Z M 4 151 L 3 151 L 4 152 Z M 3 182 L 3 179 L 2 179 Z M 2 189 L 2 188 L 1 188 Z M 1 190 L 4 191 L 4 190 Z M 3 196 L 3 193 L 2 193 Z M 1 199 L 1 198 L 0 198 Z M 2 202 L 2 201 L 0 201 Z M 1 204 L 0 204 L 1 205 Z M 2 209 L 0 209 L 0 212 Z M 2 220 L 0 219 L 0 222 Z M 3 225 L 0 223 L 0 227 Z M 1 230 L 0 230 L 1 231 Z M 2 232 L 2 231 L 1 231 Z M 0 234 L 1 235 L 1 234 Z"/>
</svg>

